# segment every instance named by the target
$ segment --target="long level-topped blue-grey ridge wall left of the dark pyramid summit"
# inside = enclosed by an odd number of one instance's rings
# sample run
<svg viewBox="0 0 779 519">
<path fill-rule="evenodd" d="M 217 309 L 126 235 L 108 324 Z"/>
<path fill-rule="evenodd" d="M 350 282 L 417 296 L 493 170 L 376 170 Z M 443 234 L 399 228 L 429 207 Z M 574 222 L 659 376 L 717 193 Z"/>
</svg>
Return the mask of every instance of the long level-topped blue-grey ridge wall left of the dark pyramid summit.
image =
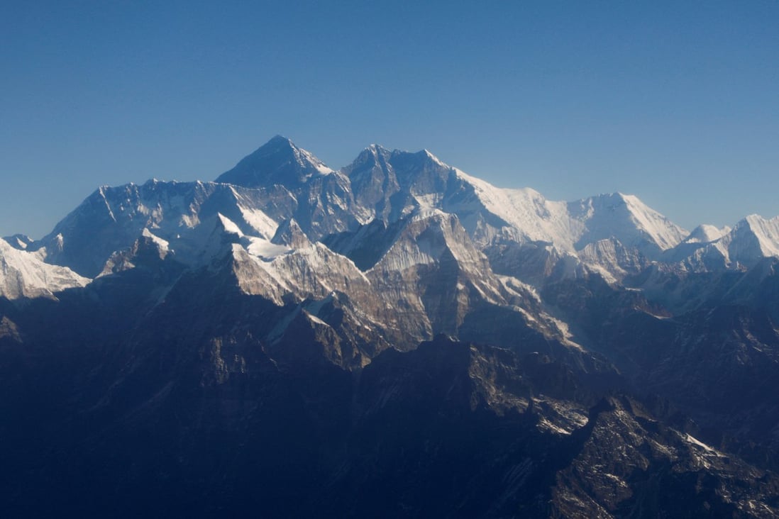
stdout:
<svg viewBox="0 0 779 519">
<path fill-rule="evenodd" d="M 111 254 L 132 246 L 146 229 L 167 241 L 179 261 L 193 263 L 208 247 L 199 226 L 219 214 L 242 233 L 270 240 L 277 223 L 263 212 L 263 202 L 277 207 L 266 191 L 227 184 L 149 181 L 103 187 L 31 247 L 44 247 L 50 263 L 94 277 Z M 291 212 L 291 205 L 285 209 Z"/>
</svg>

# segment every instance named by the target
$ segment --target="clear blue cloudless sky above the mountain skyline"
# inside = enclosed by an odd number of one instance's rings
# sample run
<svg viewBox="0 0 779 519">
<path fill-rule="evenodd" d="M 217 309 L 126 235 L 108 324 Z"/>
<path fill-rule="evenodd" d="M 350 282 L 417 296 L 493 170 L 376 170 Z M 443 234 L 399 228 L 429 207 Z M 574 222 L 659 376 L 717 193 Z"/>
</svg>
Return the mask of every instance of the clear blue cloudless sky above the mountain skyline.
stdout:
<svg viewBox="0 0 779 519">
<path fill-rule="evenodd" d="M 779 215 L 779 2 L 0 2 L 0 235 L 273 135 L 553 200 Z"/>
</svg>

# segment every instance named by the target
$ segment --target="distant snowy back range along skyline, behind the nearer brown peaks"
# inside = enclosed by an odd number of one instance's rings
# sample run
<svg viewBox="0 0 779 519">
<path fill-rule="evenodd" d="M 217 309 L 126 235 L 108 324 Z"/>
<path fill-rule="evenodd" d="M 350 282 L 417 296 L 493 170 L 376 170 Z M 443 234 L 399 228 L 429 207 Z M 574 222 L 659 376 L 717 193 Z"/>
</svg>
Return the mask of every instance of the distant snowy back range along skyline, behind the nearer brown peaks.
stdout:
<svg viewBox="0 0 779 519">
<path fill-rule="evenodd" d="M 277 230 L 292 222 L 307 240 L 339 244 L 333 252 L 354 261 L 354 251 L 365 254 L 365 244 L 359 243 L 365 233 L 374 241 L 379 226 L 397 231 L 435 212 L 454 216 L 471 244 L 493 263 L 505 261 L 506 249 L 544 249 L 551 263 L 566 258 L 569 269 L 597 271 L 612 282 L 652 262 L 686 272 L 744 268 L 779 256 L 777 219 L 752 215 L 732 228 L 702 225 L 689 233 L 633 195 L 552 202 L 529 188 L 495 188 L 427 150 L 390 152 L 377 145 L 349 166 L 332 170 L 280 136 L 215 182 L 101 187 L 42 240 L 6 241 L 28 253 L 15 254 L 16 261 L 35 265 L 42 259 L 69 268 L 75 282 L 79 276 L 96 278 L 111 254 L 143 237 L 158 239 L 190 267 L 206 265 L 218 254 L 214 233 L 237 236 L 252 257 L 272 259 L 283 251 L 280 245 L 290 245 L 277 237 L 273 247 Z M 387 249 L 392 240 L 383 232 L 379 237 Z M 8 255 L 5 247 L 3 257 Z M 506 275 L 533 279 L 522 270 Z M 0 293 L 15 297 L 8 283 Z M 54 282 L 50 292 L 67 286 Z"/>
</svg>

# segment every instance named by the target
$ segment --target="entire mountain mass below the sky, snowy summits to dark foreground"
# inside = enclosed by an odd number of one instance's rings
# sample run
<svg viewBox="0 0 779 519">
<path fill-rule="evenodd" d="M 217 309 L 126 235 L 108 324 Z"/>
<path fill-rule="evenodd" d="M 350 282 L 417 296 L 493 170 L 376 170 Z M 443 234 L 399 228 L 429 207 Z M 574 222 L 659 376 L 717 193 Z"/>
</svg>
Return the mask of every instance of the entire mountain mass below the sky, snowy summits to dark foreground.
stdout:
<svg viewBox="0 0 779 519">
<path fill-rule="evenodd" d="M 376 145 L 99 188 L 0 240 L 0 506 L 777 517 L 777 254 Z"/>
</svg>

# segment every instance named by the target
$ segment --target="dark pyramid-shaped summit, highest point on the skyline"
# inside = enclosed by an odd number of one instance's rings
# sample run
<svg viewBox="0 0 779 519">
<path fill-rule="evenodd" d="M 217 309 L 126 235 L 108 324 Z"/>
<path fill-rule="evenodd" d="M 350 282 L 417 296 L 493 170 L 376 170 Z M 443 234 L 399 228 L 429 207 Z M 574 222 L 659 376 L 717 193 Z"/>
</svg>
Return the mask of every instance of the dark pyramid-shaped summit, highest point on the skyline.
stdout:
<svg viewBox="0 0 779 519">
<path fill-rule="evenodd" d="M 260 146 L 245 156 L 236 166 L 217 177 L 217 182 L 247 188 L 267 188 L 274 184 L 299 188 L 312 177 L 333 173 L 311 152 L 294 144 L 282 135 Z"/>
</svg>

